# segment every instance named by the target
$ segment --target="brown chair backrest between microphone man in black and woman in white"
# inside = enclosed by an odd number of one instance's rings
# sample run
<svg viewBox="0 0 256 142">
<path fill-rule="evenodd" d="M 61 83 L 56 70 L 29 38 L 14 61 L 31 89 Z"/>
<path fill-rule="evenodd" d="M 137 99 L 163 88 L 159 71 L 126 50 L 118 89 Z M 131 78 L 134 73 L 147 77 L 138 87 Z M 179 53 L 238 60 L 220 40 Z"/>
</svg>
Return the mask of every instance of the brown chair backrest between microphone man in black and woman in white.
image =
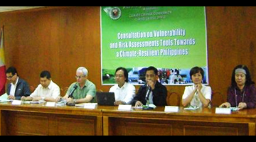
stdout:
<svg viewBox="0 0 256 142">
<path fill-rule="evenodd" d="M 174 91 L 168 91 L 166 97 L 167 105 L 169 106 L 180 106 L 181 105 L 181 95 Z"/>
</svg>

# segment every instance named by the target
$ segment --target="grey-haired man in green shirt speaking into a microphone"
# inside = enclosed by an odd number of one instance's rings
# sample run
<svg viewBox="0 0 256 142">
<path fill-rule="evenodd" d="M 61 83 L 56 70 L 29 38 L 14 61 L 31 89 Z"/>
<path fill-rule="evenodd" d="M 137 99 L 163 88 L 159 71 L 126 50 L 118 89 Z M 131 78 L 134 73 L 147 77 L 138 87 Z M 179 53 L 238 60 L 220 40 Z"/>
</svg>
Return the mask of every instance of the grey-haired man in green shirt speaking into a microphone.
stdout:
<svg viewBox="0 0 256 142">
<path fill-rule="evenodd" d="M 70 84 L 63 99 L 67 103 L 79 104 L 85 102 L 96 102 L 96 86 L 87 79 L 88 70 L 85 67 L 78 67 L 75 78 L 77 82 Z"/>
</svg>

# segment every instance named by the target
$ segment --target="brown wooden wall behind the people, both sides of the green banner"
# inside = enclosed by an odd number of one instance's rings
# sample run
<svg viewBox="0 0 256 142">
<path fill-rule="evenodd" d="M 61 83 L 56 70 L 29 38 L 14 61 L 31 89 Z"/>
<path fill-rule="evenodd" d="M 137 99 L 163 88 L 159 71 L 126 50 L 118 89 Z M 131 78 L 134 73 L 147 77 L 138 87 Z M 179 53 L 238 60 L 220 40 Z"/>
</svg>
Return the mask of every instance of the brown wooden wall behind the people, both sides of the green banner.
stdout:
<svg viewBox="0 0 256 142">
<path fill-rule="evenodd" d="M 238 64 L 247 65 L 256 81 L 256 8 L 206 6 L 206 22 L 209 85 L 213 91 L 226 95 L 233 67 Z M 0 13 L 2 25 L 6 66 L 16 66 L 29 84 L 37 86 L 40 72 L 49 70 L 53 81 L 65 88 L 76 81 L 75 70 L 85 66 L 97 89 L 110 89 L 101 85 L 99 6 Z M 182 95 L 184 86 L 167 89 Z"/>
</svg>

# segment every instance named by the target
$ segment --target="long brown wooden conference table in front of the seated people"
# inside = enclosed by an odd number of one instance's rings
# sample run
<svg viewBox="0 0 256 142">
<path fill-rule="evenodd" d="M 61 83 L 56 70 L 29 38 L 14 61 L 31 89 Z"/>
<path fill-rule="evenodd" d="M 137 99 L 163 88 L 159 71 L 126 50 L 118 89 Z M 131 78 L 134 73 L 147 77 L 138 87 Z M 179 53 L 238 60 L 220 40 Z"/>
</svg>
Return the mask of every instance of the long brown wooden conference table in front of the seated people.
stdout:
<svg viewBox="0 0 256 142">
<path fill-rule="evenodd" d="M 216 114 L 215 108 L 127 111 L 111 106 L 85 109 L 4 102 L 0 103 L 0 122 L 1 136 L 255 136 L 256 109 Z"/>
</svg>

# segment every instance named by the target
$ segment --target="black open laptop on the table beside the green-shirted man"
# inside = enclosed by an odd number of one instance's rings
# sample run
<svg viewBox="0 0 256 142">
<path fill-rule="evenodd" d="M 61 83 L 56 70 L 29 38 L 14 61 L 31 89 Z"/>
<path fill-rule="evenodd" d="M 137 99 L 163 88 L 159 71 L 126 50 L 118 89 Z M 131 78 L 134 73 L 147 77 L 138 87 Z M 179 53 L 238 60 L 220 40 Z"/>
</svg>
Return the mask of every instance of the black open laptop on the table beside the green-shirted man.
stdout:
<svg viewBox="0 0 256 142">
<path fill-rule="evenodd" d="M 97 104 L 102 106 L 114 106 L 114 92 L 96 92 Z"/>
</svg>

